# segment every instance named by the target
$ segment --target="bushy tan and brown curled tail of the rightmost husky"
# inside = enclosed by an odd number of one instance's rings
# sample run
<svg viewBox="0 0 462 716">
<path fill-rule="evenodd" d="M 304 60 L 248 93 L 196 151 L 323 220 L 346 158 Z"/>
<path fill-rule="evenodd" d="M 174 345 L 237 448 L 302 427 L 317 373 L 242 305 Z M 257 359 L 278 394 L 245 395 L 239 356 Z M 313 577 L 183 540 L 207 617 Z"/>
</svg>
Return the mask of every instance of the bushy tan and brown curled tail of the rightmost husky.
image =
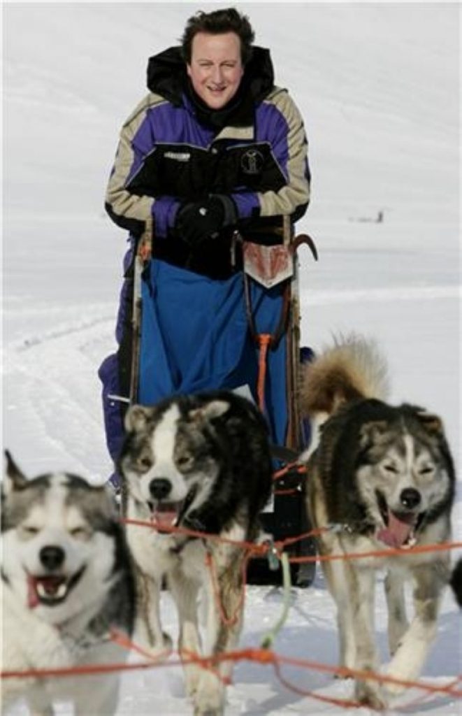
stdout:
<svg viewBox="0 0 462 716">
<path fill-rule="evenodd" d="M 388 372 L 384 357 L 373 340 L 357 334 L 335 337 L 303 368 L 302 412 L 324 422 L 340 405 L 359 398 L 388 397 Z"/>
</svg>

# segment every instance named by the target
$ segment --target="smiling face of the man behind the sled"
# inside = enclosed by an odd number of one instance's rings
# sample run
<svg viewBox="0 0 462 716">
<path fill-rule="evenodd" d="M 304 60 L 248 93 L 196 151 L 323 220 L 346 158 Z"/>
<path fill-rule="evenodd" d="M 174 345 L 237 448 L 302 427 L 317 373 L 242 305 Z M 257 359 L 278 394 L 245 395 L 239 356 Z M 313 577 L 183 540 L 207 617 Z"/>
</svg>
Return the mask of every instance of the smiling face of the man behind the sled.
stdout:
<svg viewBox="0 0 462 716">
<path fill-rule="evenodd" d="M 192 39 L 191 50 L 187 74 L 192 87 L 208 107 L 220 110 L 234 97 L 244 74 L 240 38 L 235 32 L 221 35 L 198 32 Z"/>
</svg>

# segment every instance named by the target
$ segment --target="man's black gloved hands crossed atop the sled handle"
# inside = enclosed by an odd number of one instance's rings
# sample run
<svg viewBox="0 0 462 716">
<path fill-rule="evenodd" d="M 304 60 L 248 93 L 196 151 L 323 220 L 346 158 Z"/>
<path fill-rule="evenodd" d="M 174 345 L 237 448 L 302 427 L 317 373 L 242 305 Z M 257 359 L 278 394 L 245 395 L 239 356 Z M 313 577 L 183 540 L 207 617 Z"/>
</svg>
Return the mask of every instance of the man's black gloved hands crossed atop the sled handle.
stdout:
<svg viewBox="0 0 462 716">
<path fill-rule="evenodd" d="M 204 201 L 188 202 L 180 206 L 175 219 L 175 230 L 190 244 L 215 238 L 220 229 L 237 221 L 235 203 L 225 194 L 213 194 Z"/>
</svg>

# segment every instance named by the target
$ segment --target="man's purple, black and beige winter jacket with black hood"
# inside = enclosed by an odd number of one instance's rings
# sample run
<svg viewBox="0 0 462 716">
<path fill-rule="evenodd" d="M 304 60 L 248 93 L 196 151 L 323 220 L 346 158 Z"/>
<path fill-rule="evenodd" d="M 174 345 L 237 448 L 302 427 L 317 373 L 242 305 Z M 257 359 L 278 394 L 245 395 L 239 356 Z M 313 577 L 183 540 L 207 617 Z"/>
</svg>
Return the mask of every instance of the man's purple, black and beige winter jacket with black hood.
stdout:
<svg viewBox="0 0 462 716">
<path fill-rule="evenodd" d="M 195 95 L 179 47 L 149 59 L 147 84 L 149 94 L 122 127 L 107 187 L 109 216 L 134 236 L 154 218 L 154 256 L 225 277 L 232 231 L 202 243 L 200 256 L 192 256 L 174 231 L 178 208 L 211 193 L 230 195 L 248 234 L 284 215 L 303 216 L 310 173 L 300 112 L 287 91 L 275 87 L 270 54 L 260 47 L 222 110 L 210 110 Z M 270 231 L 257 240 L 275 238 Z"/>
</svg>

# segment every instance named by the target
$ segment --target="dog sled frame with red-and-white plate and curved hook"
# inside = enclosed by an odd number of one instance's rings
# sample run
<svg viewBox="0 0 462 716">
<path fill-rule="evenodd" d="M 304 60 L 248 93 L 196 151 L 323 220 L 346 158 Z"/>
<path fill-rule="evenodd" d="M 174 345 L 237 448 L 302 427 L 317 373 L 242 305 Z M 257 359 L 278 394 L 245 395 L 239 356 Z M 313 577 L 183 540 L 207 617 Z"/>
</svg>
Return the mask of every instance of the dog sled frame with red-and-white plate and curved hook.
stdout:
<svg viewBox="0 0 462 716">
<path fill-rule="evenodd" d="M 257 368 L 253 385 L 237 387 L 241 392 L 253 398 L 262 413 L 268 418 L 272 432 L 272 455 L 275 463 L 274 489 L 272 500 L 261 514 L 265 532 L 273 536 L 274 541 L 286 541 L 289 558 L 314 557 L 315 541 L 311 537 L 298 539 L 310 531 L 306 516 L 305 495 L 303 490 L 304 471 L 297 464 L 298 455 L 306 448 L 310 439 L 308 424 L 300 415 L 300 367 L 311 357 L 310 349 L 300 347 L 300 299 L 297 251 L 305 244 L 315 260 L 318 259 L 315 244 L 310 236 L 301 234 L 294 236 L 293 225 L 289 217 L 284 217 L 280 228 L 283 241 L 275 246 L 263 246 L 260 243 L 246 241 L 238 231 L 233 241 L 242 244 L 242 281 L 244 284 L 245 313 L 248 332 L 252 337 L 253 352 L 257 355 Z M 147 337 L 143 311 L 149 301 L 149 291 L 144 286 L 144 278 L 149 270 L 153 241 L 153 226 L 147 223 L 146 229 L 137 243 L 133 273 L 133 309 L 132 309 L 132 358 L 130 374 L 129 402 L 149 404 L 149 391 L 143 386 L 143 350 Z M 263 286 L 273 289 L 282 296 L 280 316 L 271 332 L 262 331 L 259 325 L 254 300 L 255 289 Z M 240 286 L 242 291 L 242 284 Z M 256 304 L 257 301 L 255 301 Z M 275 361 L 275 355 L 284 356 L 284 362 Z M 284 376 L 281 381 L 280 374 Z M 277 399 L 271 395 L 267 400 L 267 387 L 277 382 L 284 382 L 287 420 L 283 428 L 277 425 L 273 415 L 270 420 L 268 402 L 272 402 L 273 412 Z M 214 388 L 227 385 L 215 384 Z M 274 387 L 274 386 L 273 386 Z M 232 390 L 232 388 L 231 388 Z M 315 561 L 293 563 L 290 567 L 292 583 L 295 586 L 309 586 L 314 579 Z M 270 558 L 252 558 L 247 569 L 247 581 L 250 584 L 281 584 L 282 567 L 280 561 L 275 563 Z"/>
</svg>

